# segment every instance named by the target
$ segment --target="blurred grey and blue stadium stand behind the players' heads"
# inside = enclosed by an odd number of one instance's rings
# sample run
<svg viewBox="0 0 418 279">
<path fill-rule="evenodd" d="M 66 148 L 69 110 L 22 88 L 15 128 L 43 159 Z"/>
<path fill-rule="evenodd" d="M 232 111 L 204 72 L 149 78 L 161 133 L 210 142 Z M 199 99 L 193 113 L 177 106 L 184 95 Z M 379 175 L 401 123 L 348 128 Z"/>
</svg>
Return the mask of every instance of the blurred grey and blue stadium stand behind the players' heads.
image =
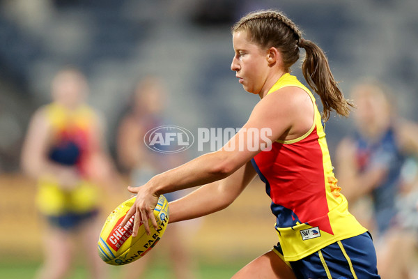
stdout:
<svg viewBox="0 0 418 279">
<path fill-rule="evenodd" d="M 52 74 L 66 64 L 88 76 L 91 103 L 107 116 L 111 146 L 118 115 L 134 82 L 146 73 L 166 80 L 167 113 L 178 125 L 241 126 L 256 100 L 242 93 L 229 70 L 229 27 L 257 8 L 279 8 L 299 24 L 327 52 L 343 90 L 364 75 L 380 78 L 398 90 L 405 116 L 417 119 L 410 105 L 418 99 L 418 54 L 412 51 L 418 43 L 417 1 L 263 0 L 238 6 L 213 0 L 15 0 L 0 5 L 0 125 L 18 131 L 13 141 L 0 141 L 5 170 L 17 169 L 17 160 L 8 157 L 17 153 L 3 156 L 5 149 L 16 152 L 8 142 L 21 140 L 31 112 L 49 100 Z M 332 119 L 331 130 L 346 130 L 340 122 Z M 332 147 L 336 139 L 329 134 L 329 140 Z"/>
</svg>

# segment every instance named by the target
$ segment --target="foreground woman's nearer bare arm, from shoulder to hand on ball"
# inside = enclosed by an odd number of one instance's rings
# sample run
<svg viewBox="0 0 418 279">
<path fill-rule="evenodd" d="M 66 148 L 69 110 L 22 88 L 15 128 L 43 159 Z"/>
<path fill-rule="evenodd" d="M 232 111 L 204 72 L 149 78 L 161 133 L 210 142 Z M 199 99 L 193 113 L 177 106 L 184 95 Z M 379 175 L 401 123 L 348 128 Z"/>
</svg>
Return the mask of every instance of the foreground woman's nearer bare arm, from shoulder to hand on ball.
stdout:
<svg viewBox="0 0 418 279">
<path fill-rule="evenodd" d="M 219 151 L 205 154 L 180 167 L 154 176 L 144 186 L 128 188 L 130 192 L 138 195 L 121 225 L 124 225 L 130 217 L 135 215 L 134 235 L 137 234 L 140 222 L 144 223 L 146 232 L 149 233 L 148 219 L 151 220 L 154 227 L 157 227 L 153 210 L 161 194 L 224 179 L 249 162 L 251 158 L 254 158 L 265 147 L 263 144 L 270 145 L 282 135 L 288 135 L 293 128 L 293 123 L 300 123 L 298 121 L 300 119 L 297 119 L 297 117 L 305 114 L 295 114 L 295 110 L 300 110 L 301 103 L 300 100 L 295 98 L 294 88 L 286 87 L 280 89 L 280 91 L 280 93 L 272 93 L 263 98 L 254 107 L 245 126 Z M 307 100 L 307 104 L 312 110 L 309 96 L 309 99 L 307 99 L 306 93 L 301 94 L 299 96 Z M 312 121 L 313 117 L 308 115 L 306 130 L 311 128 Z M 271 133 L 261 134 L 263 128 L 270 128 Z M 248 148 L 249 146 L 255 146 L 255 148 Z"/>
</svg>

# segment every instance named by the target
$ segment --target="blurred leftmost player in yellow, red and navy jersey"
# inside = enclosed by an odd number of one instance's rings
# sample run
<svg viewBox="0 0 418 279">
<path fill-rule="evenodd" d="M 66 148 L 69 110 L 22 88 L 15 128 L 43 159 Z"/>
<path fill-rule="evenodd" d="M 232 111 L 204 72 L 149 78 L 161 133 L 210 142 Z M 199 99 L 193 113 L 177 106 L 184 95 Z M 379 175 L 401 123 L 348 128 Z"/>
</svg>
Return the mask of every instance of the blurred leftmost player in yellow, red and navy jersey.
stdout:
<svg viewBox="0 0 418 279">
<path fill-rule="evenodd" d="M 36 204 L 45 217 L 45 262 L 39 279 L 67 278 L 82 250 L 89 278 L 106 278 L 97 253 L 100 189 L 121 186 L 104 142 L 103 121 L 85 103 L 82 73 L 65 68 L 52 81 L 52 103 L 31 119 L 22 149 L 24 171 L 38 181 Z"/>
</svg>

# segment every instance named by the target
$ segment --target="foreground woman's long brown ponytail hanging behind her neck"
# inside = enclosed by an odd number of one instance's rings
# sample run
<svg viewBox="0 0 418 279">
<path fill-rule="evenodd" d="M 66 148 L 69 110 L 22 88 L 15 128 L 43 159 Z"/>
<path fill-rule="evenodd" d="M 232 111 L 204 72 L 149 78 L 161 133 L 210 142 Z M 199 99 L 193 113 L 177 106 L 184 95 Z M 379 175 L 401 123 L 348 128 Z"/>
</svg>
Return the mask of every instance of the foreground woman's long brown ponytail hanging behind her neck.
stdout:
<svg viewBox="0 0 418 279">
<path fill-rule="evenodd" d="M 323 103 L 323 120 L 330 119 L 332 111 L 347 117 L 350 114 L 350 107 L 354 105 L 344 98 L 334 80 L 323 50 L 310 40 L 304 39 L 300 39 L 298 46 L 304 48 L 306 52 L 302 73 L 311 89 L 320 96 Z"/>
</svg>

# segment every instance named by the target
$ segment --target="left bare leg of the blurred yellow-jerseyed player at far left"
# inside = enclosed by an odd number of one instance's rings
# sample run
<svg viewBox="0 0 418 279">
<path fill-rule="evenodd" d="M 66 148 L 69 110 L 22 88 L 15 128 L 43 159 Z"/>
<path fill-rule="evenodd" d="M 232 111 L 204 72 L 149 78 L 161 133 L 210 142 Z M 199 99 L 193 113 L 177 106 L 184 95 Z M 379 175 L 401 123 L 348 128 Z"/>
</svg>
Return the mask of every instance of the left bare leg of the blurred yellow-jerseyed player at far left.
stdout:
<svg viewBox="0 0 418 279">
<path fill-rule="evenodd" d="M 47 227 L 44 235 L 45 261 L 38 271 L 38 279 L 66 278 L 70 271 L 72 243 L 70 235 L 56 227 Z"/>
</svg>

